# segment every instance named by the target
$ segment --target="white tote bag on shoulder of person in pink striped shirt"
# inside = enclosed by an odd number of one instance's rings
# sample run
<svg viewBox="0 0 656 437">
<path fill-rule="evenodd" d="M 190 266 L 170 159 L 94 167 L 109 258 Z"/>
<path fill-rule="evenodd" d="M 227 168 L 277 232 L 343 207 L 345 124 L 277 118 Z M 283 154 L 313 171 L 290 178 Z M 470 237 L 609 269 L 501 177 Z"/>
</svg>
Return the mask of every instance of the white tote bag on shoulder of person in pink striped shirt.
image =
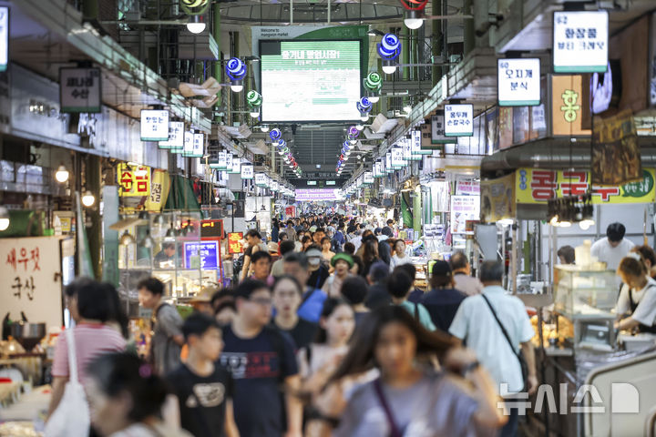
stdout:
<svg viewBox="0 0 656 437">
<path fill-rule="evenodd" d="M 87 394 L 77 377 L 77 354 L 73 330 L 66 330 L 68 382 L 55 412 L 46 422 L 46 437 L 87 437 L 91 419 Z"/>
</svg>

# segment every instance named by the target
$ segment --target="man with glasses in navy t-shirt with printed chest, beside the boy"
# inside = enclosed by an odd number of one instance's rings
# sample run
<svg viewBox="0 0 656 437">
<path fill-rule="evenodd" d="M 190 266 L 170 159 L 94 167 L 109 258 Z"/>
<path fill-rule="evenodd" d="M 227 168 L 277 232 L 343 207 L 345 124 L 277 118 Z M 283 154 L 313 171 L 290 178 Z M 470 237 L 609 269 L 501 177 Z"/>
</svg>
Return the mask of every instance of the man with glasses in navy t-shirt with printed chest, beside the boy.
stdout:
<svg viewBox="0 0 656 437">
<path fill-rule="evenodd" d="M 234 380 L 233 404 L 240 435 L 300 437 L 302 402 L 296 393 L 301 379 L 292 339 L 268 326 L 272 292 L 259 280 L 245 279 L 234 293 L 237 317 L 223 329 L 220 363 Z"/>
</svg>

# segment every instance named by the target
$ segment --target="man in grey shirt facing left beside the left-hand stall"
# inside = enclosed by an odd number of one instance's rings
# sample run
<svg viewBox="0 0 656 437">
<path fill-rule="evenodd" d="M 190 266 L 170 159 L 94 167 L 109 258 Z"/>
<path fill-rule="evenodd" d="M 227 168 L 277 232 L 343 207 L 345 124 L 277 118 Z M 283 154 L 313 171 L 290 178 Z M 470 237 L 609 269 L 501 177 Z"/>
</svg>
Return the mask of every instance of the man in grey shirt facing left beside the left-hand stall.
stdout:
<svg viewBox="0 0 656 437">
<path fill-rule="evenodd" d="M 162 300 L 164 284 L 159 279 L 142 279 L 137 290 L 139 304 L 153 311 L 150 362 L 163 376 L 177 369 L 180 363 L 180 351 L 184 345 L 182 318 L 178 310 Z"/>
</svg>

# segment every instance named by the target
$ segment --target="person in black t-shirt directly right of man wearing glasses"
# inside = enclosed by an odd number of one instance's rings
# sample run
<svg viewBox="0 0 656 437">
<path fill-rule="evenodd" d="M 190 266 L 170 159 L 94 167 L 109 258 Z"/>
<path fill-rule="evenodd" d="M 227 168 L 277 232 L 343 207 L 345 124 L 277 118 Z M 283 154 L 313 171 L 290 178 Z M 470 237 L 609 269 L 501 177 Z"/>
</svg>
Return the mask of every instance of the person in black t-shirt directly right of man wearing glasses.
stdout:
<svg viewBox="0 0 656 437">
<path fill-rule="evenodd" d="M 296 351 L 308 346 L 316 337 L 319 325 L 299 317 L 296 311 L 301 306 L 302 287 L 291 275 L 276 279 L 273 286 L 273 307 L 276 310 L 273 323 L 279 330 L 292 336 Z"/>
</svg>

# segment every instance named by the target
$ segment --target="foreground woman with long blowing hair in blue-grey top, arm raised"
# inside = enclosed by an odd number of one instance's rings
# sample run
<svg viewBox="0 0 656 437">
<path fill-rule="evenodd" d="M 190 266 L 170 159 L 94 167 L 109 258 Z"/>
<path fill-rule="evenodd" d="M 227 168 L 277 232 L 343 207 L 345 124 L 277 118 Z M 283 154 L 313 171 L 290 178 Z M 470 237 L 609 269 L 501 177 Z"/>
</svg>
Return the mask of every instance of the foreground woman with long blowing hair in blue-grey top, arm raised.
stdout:
<svg viewBox="0 0 656 437">
<path fill-rule="evenodd" d="M 425 330 L 403 308 L 369 313 L 352 345 L 329 380 L 326 394 L 332 391 L 332 399 L 318 402 L 324 416 L 342 415 L 334 436 L 495 435 L 507 420 L 474 354 L 444 333 Z M 431 358 L 447 371 L 434 371 Z M 355 389 L 344 403 L 340 381 L 371 369 L 380 378 Z"/>
</svg>

